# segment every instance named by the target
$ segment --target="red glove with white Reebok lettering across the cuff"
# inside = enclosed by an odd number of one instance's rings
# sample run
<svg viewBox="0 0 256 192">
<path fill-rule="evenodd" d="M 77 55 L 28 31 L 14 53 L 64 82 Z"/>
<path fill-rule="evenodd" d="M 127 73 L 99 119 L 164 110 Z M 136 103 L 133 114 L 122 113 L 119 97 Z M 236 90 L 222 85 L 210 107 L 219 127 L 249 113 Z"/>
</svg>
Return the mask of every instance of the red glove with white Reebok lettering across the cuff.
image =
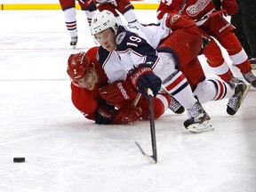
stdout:
<svg viewBox="0 0 256 192">
<path fill-rule="evenodd" d="M 132 89 L 132 84 L 128 81 L 116 81 L 108 84 L 99 90 L 100 97 L 108 103 L 118 104 L 128 100 L 134 100 L 137 91 Z"/>
</svg>

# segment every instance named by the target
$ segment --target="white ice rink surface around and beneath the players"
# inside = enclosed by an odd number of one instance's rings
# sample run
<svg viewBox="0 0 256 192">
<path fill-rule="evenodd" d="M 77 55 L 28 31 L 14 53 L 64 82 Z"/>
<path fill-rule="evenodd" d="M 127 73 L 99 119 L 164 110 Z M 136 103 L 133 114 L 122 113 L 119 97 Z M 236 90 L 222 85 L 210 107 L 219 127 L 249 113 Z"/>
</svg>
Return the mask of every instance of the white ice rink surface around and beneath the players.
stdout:
<svg viewBox="0 0 256 192">
<path fill-rule="evenodd" d="M 156 11 L 136 14 L 156 21 Z M 96 125 L 71 103 L 68 56 L 94 45 L 84 12 L 77 12 L 76 50 L 62 11 L 1 11 L 0 20 L 1 192 L 256 191 L 256 89 L 236 116 L 226 113 L 228 100 L 205 104 L 213 132 L 192 134 L 185 113 L 166 112 L 156 120 L 158 163 L 151 164 L 135 145 L 151 154 L 148 122 Z M 26 162 L 13 163 L 15 156 Z"/>
</svg>

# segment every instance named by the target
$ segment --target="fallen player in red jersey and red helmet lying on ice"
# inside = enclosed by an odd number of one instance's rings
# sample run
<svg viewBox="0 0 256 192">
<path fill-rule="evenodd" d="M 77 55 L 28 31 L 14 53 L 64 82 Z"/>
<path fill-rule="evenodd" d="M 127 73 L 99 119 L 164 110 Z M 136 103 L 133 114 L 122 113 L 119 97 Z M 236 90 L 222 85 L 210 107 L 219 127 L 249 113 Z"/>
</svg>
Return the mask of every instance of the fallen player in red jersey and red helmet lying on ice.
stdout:
<svg viewBox="0 0 256 192">
<path fill-rule="evenodd" d="M 88 52 L 71 54 L 68 58 L 68 76 L 71 80 L 72 102 L 85 118 L 96 124 L 132 124 L 148 119 L 148 100 L 140 98 L 133 105 L 138 92 L 132 88 L 130 78 L 108 84 L 108 78 L 96 59 L 98 47 Z M 155 117 L 164 114 L 171 97 L 159 93 L 154 98 Z M 118 109 L 116 109 L 118 108 Z M 180 108 L 182 113 L 184 108 Z"/>
</svg>

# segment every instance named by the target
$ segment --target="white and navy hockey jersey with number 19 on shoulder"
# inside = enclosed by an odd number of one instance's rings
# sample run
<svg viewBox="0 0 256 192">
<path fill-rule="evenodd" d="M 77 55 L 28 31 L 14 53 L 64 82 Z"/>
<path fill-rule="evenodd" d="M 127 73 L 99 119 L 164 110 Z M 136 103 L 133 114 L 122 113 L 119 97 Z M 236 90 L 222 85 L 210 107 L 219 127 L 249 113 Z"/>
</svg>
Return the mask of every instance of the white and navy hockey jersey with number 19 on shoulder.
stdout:
<svg viewBox="0 0 256 192">
<path fill-rule="evenodd" d="M 156 46 L 169 33 L 170 28 L 160 24 L 143 26 L 137 23 L 132 27 L 120 25 L 116 34 L 116 50 L 108 52 L 100 46 L 98 51 L 100 65 L 109 83 L 125 80 L 129 71 L 140 64 L 155 68 L 160 60 Z"/>
</svg>

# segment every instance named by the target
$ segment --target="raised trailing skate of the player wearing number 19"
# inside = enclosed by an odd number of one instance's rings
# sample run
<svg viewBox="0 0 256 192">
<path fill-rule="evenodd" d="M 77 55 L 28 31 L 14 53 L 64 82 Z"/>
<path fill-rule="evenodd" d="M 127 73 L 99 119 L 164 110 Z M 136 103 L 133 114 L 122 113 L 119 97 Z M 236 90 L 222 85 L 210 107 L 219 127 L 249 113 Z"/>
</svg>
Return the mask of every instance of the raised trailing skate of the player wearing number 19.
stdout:
<svg viewBox="0 0 256 192">
<path fill-rule="evenodd" d="M 244 83 L 239 83 L 236 85 L 235 94 L 228 100 L 227 113 L 230 116 L 234 116 L 237 110 L 240 108 L 246 94 L 250 89 L 251 84 L 246 85 Z"/>
</svg>

